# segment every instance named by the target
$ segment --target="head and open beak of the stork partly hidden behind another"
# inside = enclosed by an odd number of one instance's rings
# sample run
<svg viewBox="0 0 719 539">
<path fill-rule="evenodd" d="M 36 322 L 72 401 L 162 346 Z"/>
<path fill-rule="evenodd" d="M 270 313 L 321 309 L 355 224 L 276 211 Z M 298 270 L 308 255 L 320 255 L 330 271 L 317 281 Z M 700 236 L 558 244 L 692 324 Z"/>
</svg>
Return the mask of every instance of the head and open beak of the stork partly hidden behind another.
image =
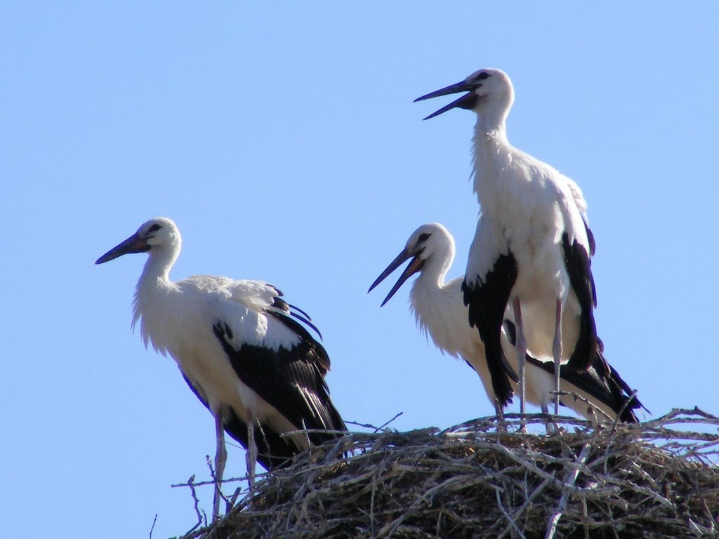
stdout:
<svg viewBox="0 0 719 539">
<path fill-rule="evenodd" d="M 385 280 L 390 273 L 396 270 L 400 265 L 408 259 L 412 262 L 408 264 L 400 275 L 400 278 L 390 290 L 382 305 L 385 305 L 400 286 L 417 272 L 431 275 L 436 280 L 444 279 L 444 274 L 454 259 L 454 239 L 452 234 L 439 223 L 429 223 L 420 226 L 407 240 L 405 248 L 390 262 L 390 265 L 377 277 L 372 283 L 370 290 Z"/>
</svg>

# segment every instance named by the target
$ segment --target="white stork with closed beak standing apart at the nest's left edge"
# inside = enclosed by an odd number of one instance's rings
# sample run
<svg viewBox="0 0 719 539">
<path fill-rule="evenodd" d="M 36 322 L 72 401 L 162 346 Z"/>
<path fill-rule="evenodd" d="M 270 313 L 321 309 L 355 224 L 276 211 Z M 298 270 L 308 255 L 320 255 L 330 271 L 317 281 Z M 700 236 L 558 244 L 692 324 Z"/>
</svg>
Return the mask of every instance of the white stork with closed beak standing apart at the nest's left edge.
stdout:
<svg viewBox="0 0 719 539">
<path fill-rule="evenodd" d="M 135 289 L 132 328 L 139 321 L 145 347 L 152 344 L 175 359 L 214 416 L 216 518 L 225 431 L 247 448 L 252 487 L 257 461 L 272 470 L 347 429 L 324 379 L 329 356 L 300 323 L 317 331 L 308 315 L 262 281 L 214 275 L 171 281 L 181 245 L 175 223 L 154 218 L 95 263 L 129 253 L 149 255 Z M 302 429 L 310 432 L 297 432 Z M 287 433 L 293 434 L 282 436 Z"/>
</svg>

